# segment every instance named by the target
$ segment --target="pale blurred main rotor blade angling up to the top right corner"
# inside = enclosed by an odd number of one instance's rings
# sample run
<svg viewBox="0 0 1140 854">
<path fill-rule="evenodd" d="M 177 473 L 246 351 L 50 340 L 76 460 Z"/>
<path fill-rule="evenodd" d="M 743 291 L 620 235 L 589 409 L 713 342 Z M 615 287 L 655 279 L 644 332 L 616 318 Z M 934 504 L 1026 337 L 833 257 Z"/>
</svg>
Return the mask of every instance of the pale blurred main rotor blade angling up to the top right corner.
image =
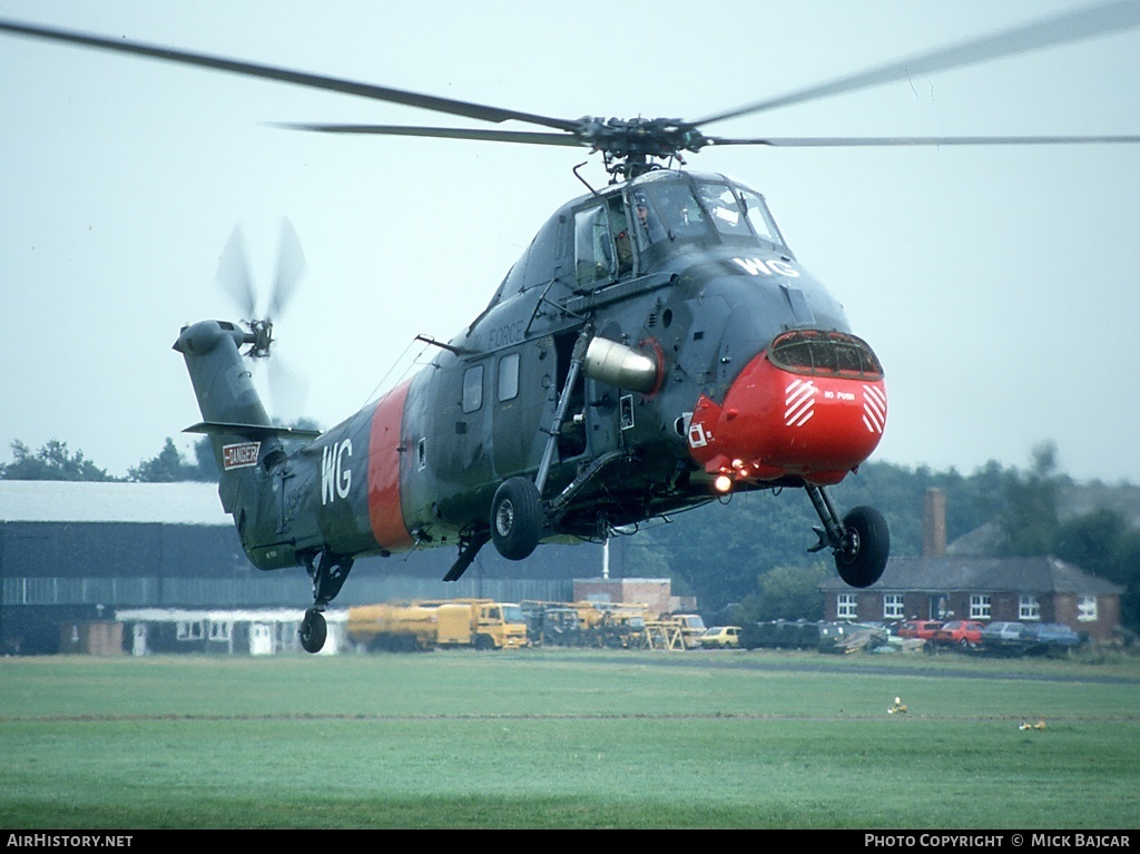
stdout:
<svg viewBox="0 0 1140 854">
<path fill-rule="evenodd" d="M 978 63 L 1002 59 L 1017 54 L 1069 44 L 1091 39 L 1096 35 L 1122 32 L 1140 26 L 1140 2 L 1137 0 L 1117 0 L 1077 11 L 1057 15 L 1031 24 L 1024 24 L 1009 30 L 1002 30 L 978 39 L 969 39 L 958 44 L 938 48 L 923 54 L 917 54 L 907 59 L 901 59 L 879 65 L 855 74 L 837 78 L 826 83 L 798 89 L 787 95 L 767 100 L 748 104 L 724 113 L 714 113 L 693 122 L 693 125 L 711 124 L 726 119 L 760 113 L 792 104 L 804 104 L 832 95 L 854 92 L 883 83 L 893 83 L 911 76 L 933 74 L 951 68 L 963 68 Z"/>
</svg>

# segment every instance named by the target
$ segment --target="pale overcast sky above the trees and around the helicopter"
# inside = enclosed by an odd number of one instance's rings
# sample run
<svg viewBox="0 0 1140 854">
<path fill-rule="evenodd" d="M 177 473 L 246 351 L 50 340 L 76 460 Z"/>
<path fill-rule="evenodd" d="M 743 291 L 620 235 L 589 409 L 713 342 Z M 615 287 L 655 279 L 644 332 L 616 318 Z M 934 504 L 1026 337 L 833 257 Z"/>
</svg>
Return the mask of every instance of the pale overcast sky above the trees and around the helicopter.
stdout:
<svg viewBox="0 0 1140 854">
<path fill-rule="evenodd" d="M 0 0 L 90 30 L 577 119 L 698 119 L 1080 6 L 1062 0 Z M 462 124 L 424 111 L 0 35 L 0 462 L 58 438 L 111 473 L 199 421 L 171 344 L 238 319 L 236 225 L 268 290 L 283 217 L 308 277 L 278 353 L 331 426 L 487 303 L 573 148 L 329 137 L 271 122 Z M 1140 133 L 1140 30 L 723 122 L 724 136 Z M 530 129 L 530 128 L 522 128 Z M 709 149 L 764 193 L 887 369 L 877 458 L 969 473 L 1057 444 L 1140 482 L 1140 145 Z M 284 404 L 283 404 L 284 406 Z M 292 414 L 292 413 L 283 413 Z"/>
</svg>

